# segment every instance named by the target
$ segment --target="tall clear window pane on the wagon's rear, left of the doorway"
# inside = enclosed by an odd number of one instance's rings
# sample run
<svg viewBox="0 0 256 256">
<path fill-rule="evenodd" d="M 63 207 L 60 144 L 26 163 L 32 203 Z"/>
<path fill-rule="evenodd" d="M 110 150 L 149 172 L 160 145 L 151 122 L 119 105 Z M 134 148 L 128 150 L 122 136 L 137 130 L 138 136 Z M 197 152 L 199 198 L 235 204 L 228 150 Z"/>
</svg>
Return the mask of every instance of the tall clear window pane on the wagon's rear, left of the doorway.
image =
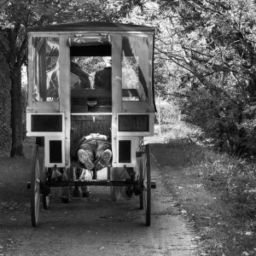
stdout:
<svg viewBox="0 0 256 256">
<path fill-rule="evenodd" d="M 34 102 L 59 102 L 59 38 L 35 38 Z"/>
</svg>

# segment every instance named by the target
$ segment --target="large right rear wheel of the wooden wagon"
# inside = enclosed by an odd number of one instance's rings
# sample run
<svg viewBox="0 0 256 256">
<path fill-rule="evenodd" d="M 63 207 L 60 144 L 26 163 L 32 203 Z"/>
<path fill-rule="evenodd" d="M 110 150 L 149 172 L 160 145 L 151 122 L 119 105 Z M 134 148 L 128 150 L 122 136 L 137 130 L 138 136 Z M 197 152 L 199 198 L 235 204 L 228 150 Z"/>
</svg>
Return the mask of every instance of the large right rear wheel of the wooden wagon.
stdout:
<svg viewBox="0 0 256 256">
<path fill-rule="evenodd" d="M 145 146 L 145 154 L 140 165 L 140 183 L 142 184 L 140 195 L 140 208 L 144 209 L 146 214 L 146 225 L 151 221 L 151 169 L 150 169 L 150 148 L 149 144 Z"/>
</svg>

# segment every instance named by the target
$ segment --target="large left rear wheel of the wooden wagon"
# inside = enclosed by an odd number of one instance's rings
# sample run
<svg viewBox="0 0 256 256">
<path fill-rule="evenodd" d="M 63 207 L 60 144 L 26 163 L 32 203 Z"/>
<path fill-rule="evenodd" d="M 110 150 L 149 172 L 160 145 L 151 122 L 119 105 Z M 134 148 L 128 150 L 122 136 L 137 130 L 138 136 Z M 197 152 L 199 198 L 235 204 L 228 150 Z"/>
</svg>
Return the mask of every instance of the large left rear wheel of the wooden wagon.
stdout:
<svg viewBox="0 0 256 256">
<path fill-rule="evenodd" d="M 32 165 L 31 165 L 31 221 L 32 226 L 38 225 L 39 203 L 40 203 L 40 167 L 39 167 L 39 149 L 34 144 L 32 148 Z"/>
</svg>

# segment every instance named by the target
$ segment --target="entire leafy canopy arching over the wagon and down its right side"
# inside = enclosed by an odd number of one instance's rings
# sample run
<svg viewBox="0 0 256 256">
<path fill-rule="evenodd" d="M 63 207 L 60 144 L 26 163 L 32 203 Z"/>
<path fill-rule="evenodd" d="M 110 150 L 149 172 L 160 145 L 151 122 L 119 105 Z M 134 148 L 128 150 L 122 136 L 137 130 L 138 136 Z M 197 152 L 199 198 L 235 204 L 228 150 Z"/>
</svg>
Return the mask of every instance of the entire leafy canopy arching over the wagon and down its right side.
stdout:
<svg viewBox="0 0 256 256">
<path fill-rule="evenodd" d="M 81 19 L 154 26 L 155 95 L 175 101 L 216 148 L 254 154 L 253 0 L 2 0 L 0 7 L 0 50 L 11 77 L 26 63 L 27 26 Z"/>
</svg>

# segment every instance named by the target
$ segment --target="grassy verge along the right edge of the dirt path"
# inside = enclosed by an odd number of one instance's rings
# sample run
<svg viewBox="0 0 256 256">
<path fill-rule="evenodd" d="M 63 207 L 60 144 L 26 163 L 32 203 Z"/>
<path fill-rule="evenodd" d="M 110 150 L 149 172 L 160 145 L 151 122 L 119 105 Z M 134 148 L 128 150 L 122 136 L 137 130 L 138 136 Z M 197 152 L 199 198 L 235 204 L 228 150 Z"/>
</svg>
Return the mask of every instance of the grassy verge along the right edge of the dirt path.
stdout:
<svg viewBox="0 0 256 256">
<path fill-rule="evenodd" d="M 170 136 L 152 151 L 207 255 L 256 255 L 255 166 Z"/>
</svg>

